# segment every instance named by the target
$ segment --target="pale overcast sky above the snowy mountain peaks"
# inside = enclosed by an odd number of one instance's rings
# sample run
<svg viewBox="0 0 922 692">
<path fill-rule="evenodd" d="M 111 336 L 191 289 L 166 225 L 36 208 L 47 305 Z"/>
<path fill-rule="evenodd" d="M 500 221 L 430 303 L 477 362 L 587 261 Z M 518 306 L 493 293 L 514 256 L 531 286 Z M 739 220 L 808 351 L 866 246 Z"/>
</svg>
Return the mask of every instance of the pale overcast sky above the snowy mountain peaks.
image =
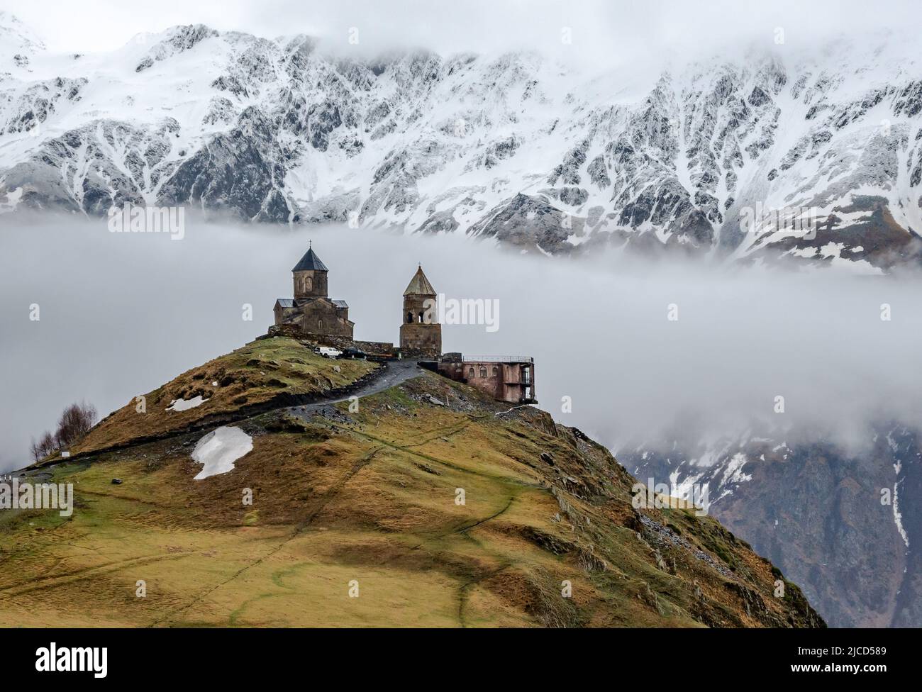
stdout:
<svg viewBox="0 0 922 692">
<path fill-rule="evenodd" d="M 4 0 L 54 51 L 117 48 L 142 31 L 202 22 L 274 37 L 308 33 L 344 50 L 427 47 L 440 53 L 511 48 L 625 62 L 659 53 L 715 52 L 727 44 L 808 46 L 840 33 L 917 30 L 917 0 Z M 360 29 L 349 48 L 349 28 Z M 572 29 L 573 42 L 561 41 Z"/>
</svg>

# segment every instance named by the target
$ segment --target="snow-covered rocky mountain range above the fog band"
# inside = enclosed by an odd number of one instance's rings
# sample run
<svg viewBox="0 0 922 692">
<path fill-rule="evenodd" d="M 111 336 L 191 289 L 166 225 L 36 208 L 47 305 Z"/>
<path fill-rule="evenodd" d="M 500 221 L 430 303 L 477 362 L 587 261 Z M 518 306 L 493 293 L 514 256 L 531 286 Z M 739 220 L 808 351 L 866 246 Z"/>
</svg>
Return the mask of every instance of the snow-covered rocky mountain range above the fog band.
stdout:
<svg viewBox="0 0 922 692">
<path fill-rule="evenodd" d="M 588 76 L 535 53 L 369 60 L 201 25 L 53 55 L 3 15 L 0 211 L 191 205 L 879 272 L 922 257 L 911 46 Z"/>
</svg>

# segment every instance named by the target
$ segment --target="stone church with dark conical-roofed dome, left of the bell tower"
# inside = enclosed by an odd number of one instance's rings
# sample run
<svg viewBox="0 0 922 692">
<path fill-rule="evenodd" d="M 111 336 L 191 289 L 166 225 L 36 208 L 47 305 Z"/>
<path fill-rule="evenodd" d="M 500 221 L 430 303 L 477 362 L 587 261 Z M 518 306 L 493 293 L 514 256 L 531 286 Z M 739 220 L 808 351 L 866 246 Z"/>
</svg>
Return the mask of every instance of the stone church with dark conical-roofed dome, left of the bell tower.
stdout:
<svg viewBox="0 0 922 692">
<path fill-rule="evenodd" d="M 302 334 L 352 338 L 355 324 L 349 321 L 349 305 L 326 295 L 327 272 L 326 264 L 309 247 L 291 270 L 294 298 L 276 300 L 273 311 L 277 325 L 297 327 Z"/>
</svg>

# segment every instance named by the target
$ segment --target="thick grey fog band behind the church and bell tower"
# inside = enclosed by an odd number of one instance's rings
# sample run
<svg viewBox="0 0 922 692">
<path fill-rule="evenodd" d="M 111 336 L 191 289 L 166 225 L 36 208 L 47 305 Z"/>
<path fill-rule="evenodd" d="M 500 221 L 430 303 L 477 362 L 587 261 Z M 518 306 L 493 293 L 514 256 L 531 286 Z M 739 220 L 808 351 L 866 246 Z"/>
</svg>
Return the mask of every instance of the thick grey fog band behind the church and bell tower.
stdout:
<svg viewBox="0 0 922 692">
<path fill-rule="evenodd" d="M 854 442 L 870 418 L 917 424 L 922 414 L 916 278 L 643 264 L 616 253 L 580 262 L 338 227 L 187 220 L 184 239 L 171 240 L 48 218 L 0 228 L 0 471 L 28 463 L 30 436 L 53 428 L 65 405 L 86 399 L 105 415 L 265 334 L 308 239 L 358 339 L 397 342 L 418 262 L 447 298 L 498 299 L 496 331 L 445 326 L 443 349 L 533 356 L 541 407 L 609 445 L 657 439 L 677 419 L 695 435 L 755 422 Z"/>
</svg>

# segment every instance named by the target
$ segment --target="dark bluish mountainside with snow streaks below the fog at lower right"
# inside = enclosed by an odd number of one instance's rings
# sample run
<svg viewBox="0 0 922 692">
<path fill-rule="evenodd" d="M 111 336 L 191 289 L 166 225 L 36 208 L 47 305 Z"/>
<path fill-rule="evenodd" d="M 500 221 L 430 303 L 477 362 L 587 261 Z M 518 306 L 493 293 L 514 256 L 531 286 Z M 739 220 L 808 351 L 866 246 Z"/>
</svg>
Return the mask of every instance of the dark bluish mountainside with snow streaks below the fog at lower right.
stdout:
<svg viewBox="0 0 922 692">
<path fill-rule="evenodd" d="M 708 484 L 709 513 L 796 581 L 832 627 L 922 626 L 922 558 L 911 549 L 922 535 L 918 431 L 878 426 L 857 453 L 727 440 L 713 464 L 693 463 L 705 452 L 619 458 L 638 478 Z"/>
</svg>

